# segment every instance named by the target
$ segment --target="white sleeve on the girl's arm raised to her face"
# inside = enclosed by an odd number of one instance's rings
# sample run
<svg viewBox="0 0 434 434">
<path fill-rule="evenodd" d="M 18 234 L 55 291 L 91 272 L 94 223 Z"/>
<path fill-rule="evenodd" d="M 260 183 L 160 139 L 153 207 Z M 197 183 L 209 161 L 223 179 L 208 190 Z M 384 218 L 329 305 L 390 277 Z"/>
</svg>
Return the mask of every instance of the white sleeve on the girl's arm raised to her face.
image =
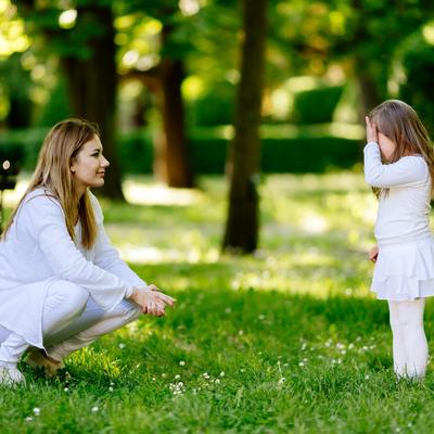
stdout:
<svg viewBox="0 0 434 434">
<path fill-rule="evenodd" d="M 370 142 L 365 146 L 365 179 L 381 189 L 407 186 L 426 179 L 427 167 L 422 157 L 406 156 L 392 164 L 382 164 L 380 146 Z"/>
</svg>

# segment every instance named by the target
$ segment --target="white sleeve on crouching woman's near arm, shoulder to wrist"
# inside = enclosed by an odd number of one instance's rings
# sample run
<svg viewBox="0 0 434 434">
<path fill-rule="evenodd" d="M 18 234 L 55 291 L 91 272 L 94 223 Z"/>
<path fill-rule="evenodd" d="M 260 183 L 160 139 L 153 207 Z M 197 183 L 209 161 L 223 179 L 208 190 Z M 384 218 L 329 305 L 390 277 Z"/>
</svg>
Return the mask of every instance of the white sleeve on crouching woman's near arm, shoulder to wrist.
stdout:
<svg viewBox="0 0 434 434">
<path fill-rule="evenodd" d="M 132 294 L 132 285 L 85 258 L 69 237 L 63 209 L 56 200 L 46 195 L 31 197 L 23 204 L 21 213 L 54 277 L 88 290 L 104 310 L 112 310 Z"/>
</svg>

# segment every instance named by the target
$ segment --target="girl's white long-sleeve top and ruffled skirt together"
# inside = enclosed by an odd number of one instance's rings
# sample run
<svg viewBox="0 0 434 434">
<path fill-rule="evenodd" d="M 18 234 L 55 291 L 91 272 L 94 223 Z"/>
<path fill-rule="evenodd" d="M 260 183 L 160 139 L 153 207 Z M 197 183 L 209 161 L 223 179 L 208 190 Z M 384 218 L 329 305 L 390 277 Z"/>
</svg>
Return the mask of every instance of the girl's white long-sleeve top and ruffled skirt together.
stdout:
<svg viewBox="0 0 434 434">
<path fill-rule="evenodd" d="M 431 176 L 421 155 L 383 165 L 379 145 L 365 146 L 365 178 L 383 190 L 375 222 L 379 256 L 371 290 L 380 299 L 434 295 L 434 241 L 430 231 Z"/>
</svg>

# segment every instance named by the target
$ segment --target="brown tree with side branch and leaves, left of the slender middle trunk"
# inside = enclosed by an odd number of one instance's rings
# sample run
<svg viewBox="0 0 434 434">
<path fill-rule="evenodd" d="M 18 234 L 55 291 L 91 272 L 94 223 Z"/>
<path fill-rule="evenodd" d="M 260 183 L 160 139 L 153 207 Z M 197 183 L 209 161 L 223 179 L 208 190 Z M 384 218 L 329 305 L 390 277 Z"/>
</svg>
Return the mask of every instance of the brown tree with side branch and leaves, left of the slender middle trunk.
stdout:
<svg viewBox="0 0 434 434">
<path fill-rule="evenodd" d="M 155 97 L 155 104 L 162 119 L 162 128 L 154 140 L 156 177 L 169 187 L 191 188 L 194 186 L 194 177 L 190 163 L 181 93 L 184 58 L 190 49 L 184 31 L 186 26 L 189 25 L 189 17 L 182 16 L 178 2 L 173 0 L 136 0 L 125 3 L 122 13 L 132 14 L 130 16 L 138 28 L 150 20 L 161 24 L 157 47 L 155 43 L 146 44 L 154 46 L 152 54 L 157 55 L 159 62 L 152 67 L 138 67 L 140 60 L 150 55 L 151 52 L 130 47 L 130 52 L 137 54 L 137 62 L 132 68 L 123 74 L 123 79 L 141 80 Z M 141 34 L 141 37 L 152 38 L 145 34 Z M 133 40 L 131 42 L 133 44 Z"/>
</svg>

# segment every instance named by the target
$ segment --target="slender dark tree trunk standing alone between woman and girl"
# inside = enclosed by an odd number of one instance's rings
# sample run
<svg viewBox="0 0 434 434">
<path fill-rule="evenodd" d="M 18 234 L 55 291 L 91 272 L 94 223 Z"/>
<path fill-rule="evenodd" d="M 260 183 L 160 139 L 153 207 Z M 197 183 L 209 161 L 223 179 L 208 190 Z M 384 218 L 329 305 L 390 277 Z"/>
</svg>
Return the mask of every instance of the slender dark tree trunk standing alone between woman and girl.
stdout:
<svg viewBox="0 0 434 434">
<path fill-rule="evenodd" d="M 244 40 L 235 135 L 229 154 L 229 209 L 222 250 L 252 253 L 259 231 L 260 104 L 265 68 L 267 0 L 243 1 Z"/>
</svg>

